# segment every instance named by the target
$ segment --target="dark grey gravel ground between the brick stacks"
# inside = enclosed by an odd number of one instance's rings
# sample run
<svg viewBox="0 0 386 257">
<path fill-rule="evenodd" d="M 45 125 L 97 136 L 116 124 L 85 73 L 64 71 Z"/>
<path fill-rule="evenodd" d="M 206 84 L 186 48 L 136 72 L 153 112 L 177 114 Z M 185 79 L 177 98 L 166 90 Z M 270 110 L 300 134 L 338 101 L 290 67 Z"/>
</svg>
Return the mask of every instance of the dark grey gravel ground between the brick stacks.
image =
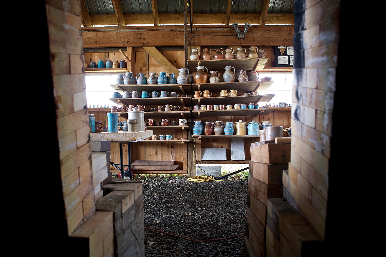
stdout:
<svg viewBox="0 0 386 257">
<path fill-rule="evenodd" d="M 247 178 L 192 182 L 186 176 L 153 177 L 142 182 L 145 256 L 249 257 Z"/>
</svg>

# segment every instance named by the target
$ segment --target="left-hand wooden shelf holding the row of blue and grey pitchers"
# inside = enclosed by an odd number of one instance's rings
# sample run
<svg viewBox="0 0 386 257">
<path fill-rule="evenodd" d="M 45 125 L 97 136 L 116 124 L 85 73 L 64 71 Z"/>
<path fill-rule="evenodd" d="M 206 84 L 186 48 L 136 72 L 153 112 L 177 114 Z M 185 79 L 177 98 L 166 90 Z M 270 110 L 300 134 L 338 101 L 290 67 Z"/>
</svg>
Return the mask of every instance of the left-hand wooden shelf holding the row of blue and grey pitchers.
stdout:
<svg viewBox="0 0 386 257">
<path fill-rule="evenodd" d="M 117 92 L 125 92 L 125 91 L 147 91 L 149 93 L 153 91 L 157 91 L 159 94 L 161 94 L 162 91 L 168 91 L 170 92 L 177 92 L 179 95 L 181 94 L 191 94 L 191 85 L 190 84 L 166 84 L 166 85 L 110 85 L 115 91 Z"/>
</svg>

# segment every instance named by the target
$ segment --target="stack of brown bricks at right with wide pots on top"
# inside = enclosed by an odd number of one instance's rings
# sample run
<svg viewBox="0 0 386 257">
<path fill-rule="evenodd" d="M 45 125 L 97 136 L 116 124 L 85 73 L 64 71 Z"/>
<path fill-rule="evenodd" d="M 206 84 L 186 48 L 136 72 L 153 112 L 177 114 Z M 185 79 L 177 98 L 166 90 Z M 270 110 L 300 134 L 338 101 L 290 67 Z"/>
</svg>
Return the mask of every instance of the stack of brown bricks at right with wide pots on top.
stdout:
<svg viewBox="0 0 386 257">
<path fill-rule="evenodd" d="M 268 198 L 283 197 L 283 170 L 288 169 L 291 144 L 257 142 L 251 146 L 245 244 L 249 255 L 266 256 Z"/>
</svg>

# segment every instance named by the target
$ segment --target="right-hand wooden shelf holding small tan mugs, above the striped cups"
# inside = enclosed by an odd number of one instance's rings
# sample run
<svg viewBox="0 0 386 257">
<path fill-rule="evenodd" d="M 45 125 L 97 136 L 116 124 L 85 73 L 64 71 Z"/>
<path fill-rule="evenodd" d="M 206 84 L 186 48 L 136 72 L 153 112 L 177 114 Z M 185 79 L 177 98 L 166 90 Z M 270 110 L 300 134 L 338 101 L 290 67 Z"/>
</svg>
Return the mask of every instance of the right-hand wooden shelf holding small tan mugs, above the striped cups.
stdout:
<svg viewBox="0 0 386 257">
<path fill-rule="evenodd" d="M 256 95 L 256 96 L 215 96 L 215 97 L 193 97 L 193 105 L 207 105 L 207 104 L 248 104 L 250 102 L 268 102 L 275 94 Z"/>
</svg>

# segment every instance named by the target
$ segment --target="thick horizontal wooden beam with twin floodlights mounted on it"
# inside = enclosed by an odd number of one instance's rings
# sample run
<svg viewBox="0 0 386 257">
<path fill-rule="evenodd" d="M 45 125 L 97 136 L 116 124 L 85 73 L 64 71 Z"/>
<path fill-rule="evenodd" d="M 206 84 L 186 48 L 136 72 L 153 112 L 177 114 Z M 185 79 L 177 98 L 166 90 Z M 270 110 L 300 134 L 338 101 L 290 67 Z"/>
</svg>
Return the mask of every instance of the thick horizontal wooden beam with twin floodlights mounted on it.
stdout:
<svg viewBox="0 0 386 257">
<path fill-rule="evenodd" d="M 193 33 L 188 30 L 187 38 L 197 35 L 191 40 L 191 45 L 293 45 L 293 26 L 255 25 L 249 28 L 243 39 L 232 35 L 235 32 L 232 28 L 233 32 L 230 33 L 227 30 L 230 28 L 229 25 L 196 25 Z M 184 26 L 82 28 L 83 46 L 86 48 L 183 46 L 186 42 L 184 33 Z"/>
</svg>

